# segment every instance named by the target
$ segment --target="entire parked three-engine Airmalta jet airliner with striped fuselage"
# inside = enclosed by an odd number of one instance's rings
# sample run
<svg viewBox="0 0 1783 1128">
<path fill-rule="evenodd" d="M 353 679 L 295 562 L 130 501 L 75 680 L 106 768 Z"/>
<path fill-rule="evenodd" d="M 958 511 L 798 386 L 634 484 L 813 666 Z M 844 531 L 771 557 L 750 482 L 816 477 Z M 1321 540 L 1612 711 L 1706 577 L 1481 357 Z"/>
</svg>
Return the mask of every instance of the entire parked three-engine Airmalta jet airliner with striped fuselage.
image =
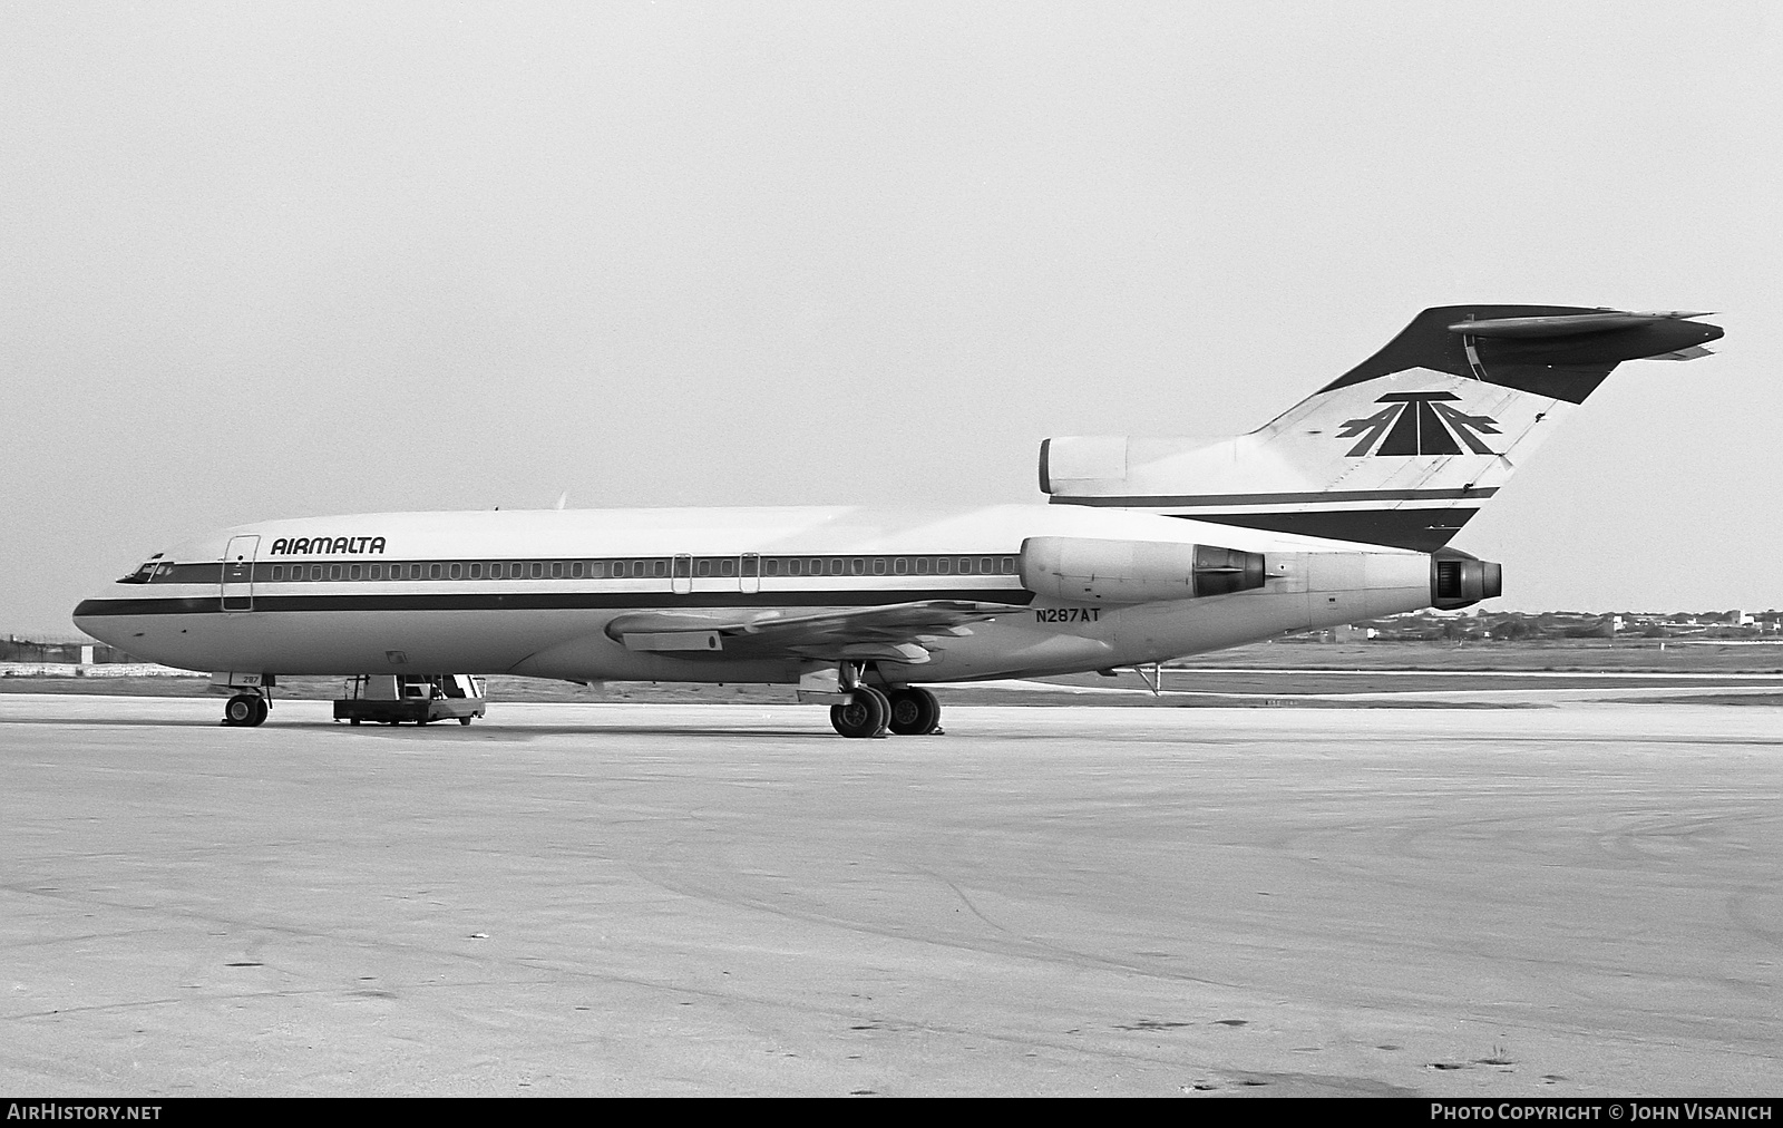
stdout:
<svg viewBox="0 0 1783 1128">
<path fill-rule="evenodd" d="M 793 684 L 849 737 L 940 730 L 924 684 L 1143 666 L 1500 594 L 1455 532 L 1623 361 L 1706 314 L 1426 309 L 1236 439 L 1041 443 L 1048 505 L 390 512 L 164 553 L 75 625 L 212 671 Z"/>
</svg>

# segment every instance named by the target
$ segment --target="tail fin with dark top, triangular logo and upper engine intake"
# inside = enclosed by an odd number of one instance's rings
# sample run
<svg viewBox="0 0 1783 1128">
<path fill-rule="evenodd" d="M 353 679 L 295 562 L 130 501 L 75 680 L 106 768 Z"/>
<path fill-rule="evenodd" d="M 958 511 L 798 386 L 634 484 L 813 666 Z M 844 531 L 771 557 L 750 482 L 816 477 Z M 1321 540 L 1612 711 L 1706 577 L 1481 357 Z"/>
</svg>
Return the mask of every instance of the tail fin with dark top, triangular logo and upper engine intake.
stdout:
<svg viewBox="0 0 1783 1128">
<path fill-rule="evenodd" d="M 1706 355 L 1721 328 L 1690 319 L 1701 316 L 1426 309 L 1378 353 L 1246 435 L 1047 439 L 1039 487 L 1056 505 L 1432 552 L 1617 364 Z"/>
</svg>

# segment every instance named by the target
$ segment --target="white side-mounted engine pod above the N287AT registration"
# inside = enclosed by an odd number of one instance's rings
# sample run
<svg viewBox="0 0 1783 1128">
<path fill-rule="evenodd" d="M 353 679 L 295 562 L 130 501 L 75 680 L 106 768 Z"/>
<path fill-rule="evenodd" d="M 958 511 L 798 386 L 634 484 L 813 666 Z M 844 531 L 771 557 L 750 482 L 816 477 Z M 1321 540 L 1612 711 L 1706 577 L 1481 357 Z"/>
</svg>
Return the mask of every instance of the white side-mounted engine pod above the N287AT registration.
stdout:
<svg viewBox="0 0 1783 1128">
<path fill-rule="evenodd" d="M 1161 541 L 1029 537 L 1022 585 L 1070 603 L 1152 603 L 1262 587 L 1261 552 Z"/>
</svg>

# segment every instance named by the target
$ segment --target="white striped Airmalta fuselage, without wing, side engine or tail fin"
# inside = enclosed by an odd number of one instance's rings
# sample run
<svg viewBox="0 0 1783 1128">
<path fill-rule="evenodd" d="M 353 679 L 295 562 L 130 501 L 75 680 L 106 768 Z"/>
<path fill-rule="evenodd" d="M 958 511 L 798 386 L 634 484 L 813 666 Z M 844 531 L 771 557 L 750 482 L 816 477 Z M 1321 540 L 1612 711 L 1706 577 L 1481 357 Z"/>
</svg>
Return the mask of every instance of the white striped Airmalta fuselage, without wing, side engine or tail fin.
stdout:
<svg viewBox="0 0 1783 1128">
<path fill-rule="evenodd" d="M 1027 537 L 1216 544 L 1264 553 L 1271 573 L 1232 594 L 1061 603 L 1023 587 Z M 75 623 L 168 666 L 275 675 L 795 682 L 808 662 L 792 655 L 649 653 L 608 625 L 1007 603 L 927 637 L 927 660 L 879 662 L 888 682 L 957 682 L 1155 662 L 1430 605 L 1425 553 L 1075 505 L 355 514 L 241 525 L 150 564 Z"/>
</svg>

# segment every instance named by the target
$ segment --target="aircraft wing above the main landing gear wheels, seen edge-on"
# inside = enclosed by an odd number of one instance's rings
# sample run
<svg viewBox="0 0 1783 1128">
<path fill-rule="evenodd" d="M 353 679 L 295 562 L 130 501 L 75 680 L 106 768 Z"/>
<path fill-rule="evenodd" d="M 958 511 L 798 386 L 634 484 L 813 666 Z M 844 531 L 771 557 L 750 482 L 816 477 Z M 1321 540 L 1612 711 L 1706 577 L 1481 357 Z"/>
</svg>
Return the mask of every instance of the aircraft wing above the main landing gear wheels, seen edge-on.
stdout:
<svg viewBox="0 0 1783 1128">
<path fill-rule="evenodd" d="M 647 610 L 619 616 L 606 634 L 628 650 L 695 657 L 929 660 L 925 641 L 972 634 L 972 623 L 1015 614 L 1009 603 L 924 600 L 890 607 L 843 607 L 815 614 Z"/>
</svg>

